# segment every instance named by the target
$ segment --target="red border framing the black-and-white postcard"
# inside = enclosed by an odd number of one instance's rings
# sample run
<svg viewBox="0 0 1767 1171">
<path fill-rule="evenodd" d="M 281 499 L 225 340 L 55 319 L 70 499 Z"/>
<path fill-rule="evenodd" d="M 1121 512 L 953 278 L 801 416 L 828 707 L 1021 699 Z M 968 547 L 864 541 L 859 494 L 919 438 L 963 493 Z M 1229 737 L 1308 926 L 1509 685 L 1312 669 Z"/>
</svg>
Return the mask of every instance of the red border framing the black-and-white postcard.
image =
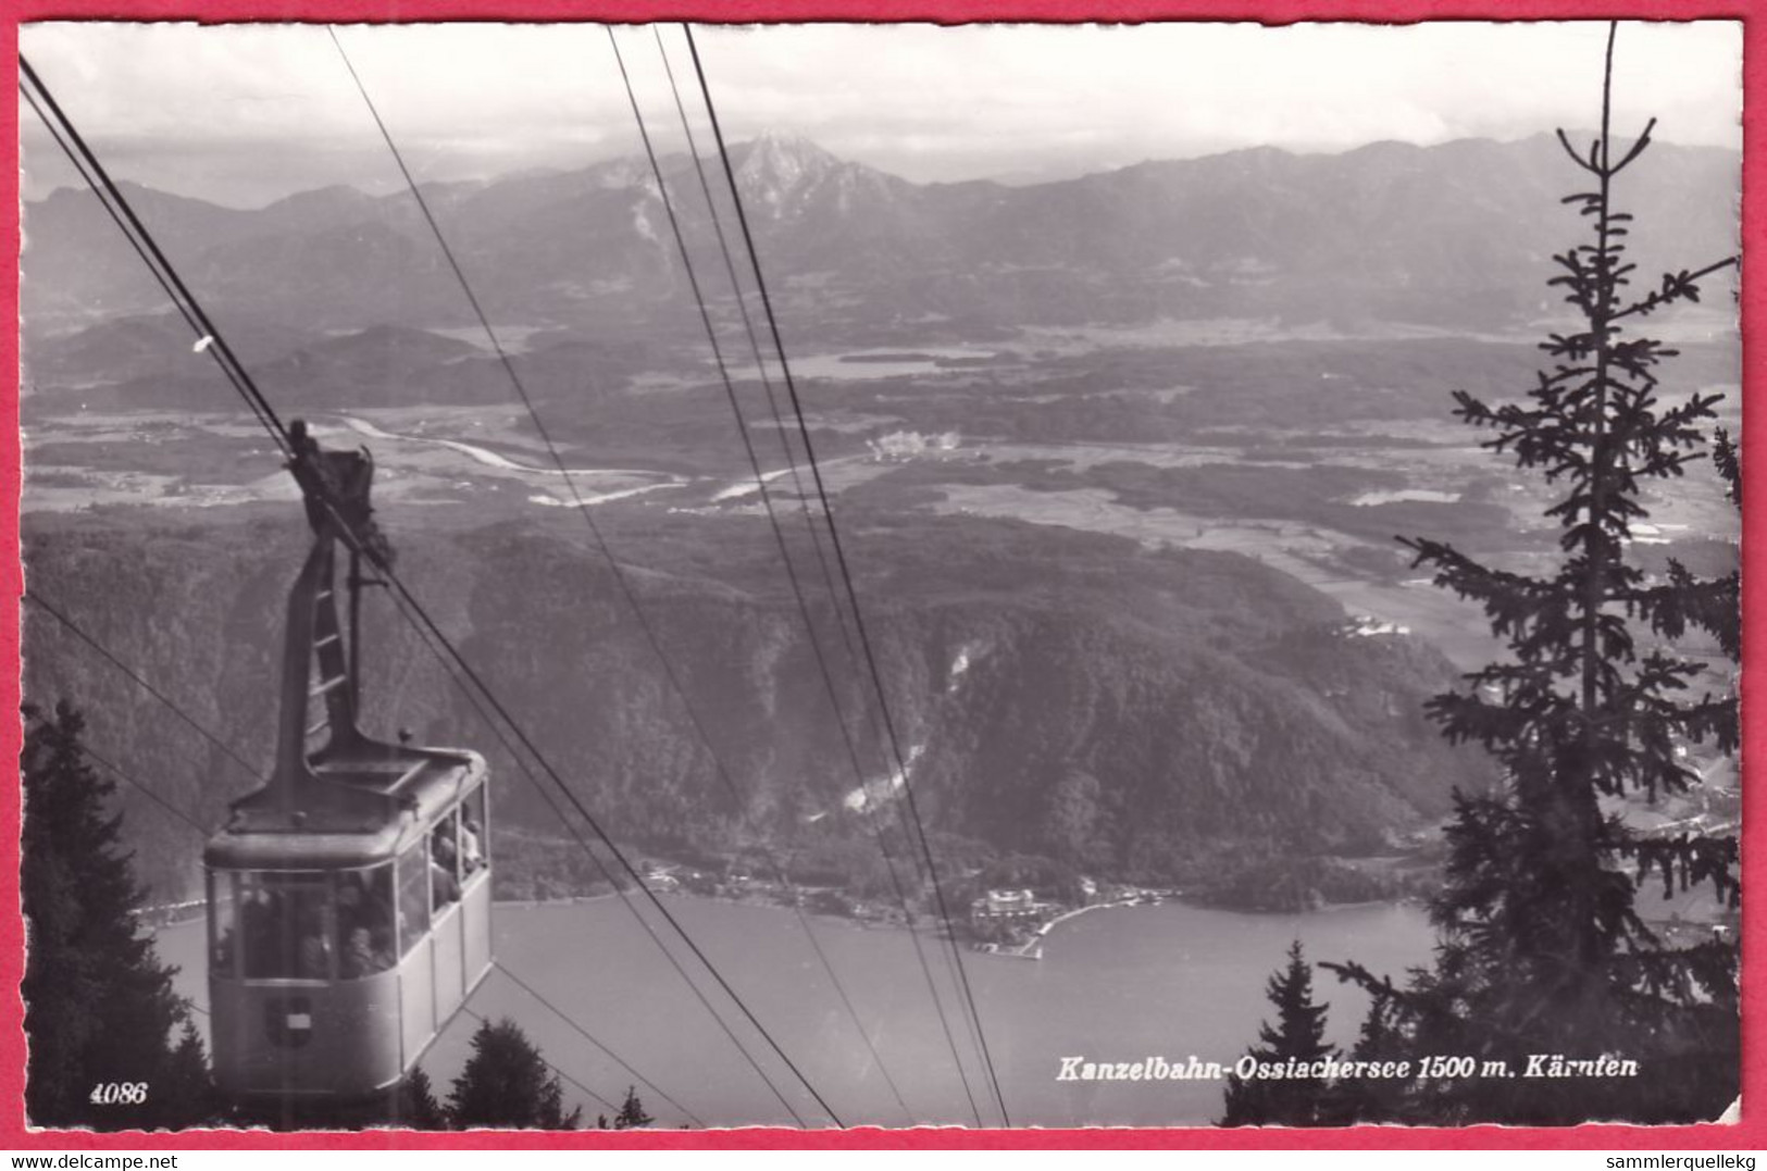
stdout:
<svg viewBox="0 0 1767 1171">
<path fill-rule="evenodd" d="M 334 21 L 334 23 L 412 23 L 440 19 L 477 21 L 931 21 L 945 25 L 979 21 L 1202 21 L 1242 19 L 1269 25 L 1295 21 L 1380 21 L 1415 23 L 1424 19 L 1739 19 L 1744 25 L 1744 117 L 1742 117 L 1742 238 L 1753 244 L 1767 226 L 1758 198 L 1767 154 L 1763 154 L 1762 94 L 1767 92 L 1767 21 L 1751 12 L 1748 0 L 1624 0 L 1590 4 L 1589 0 L 7 0 L 0 25 L 0 53 L 14 62 L 14 85 L 0 106 L 9 166 L 0 168 L 0 200 L 18 207 L 18 26 L 41 19 L 131 19 L 131 21 Z M 18 272 L 18 217 L 7 224 L 4 258 Z M 1763 351 L 1756 343 L 1767 291 L 1748 279 L 1758 263 L 1744 249 L 1742 281 L 1742 378 L 1744 399 L 1762 385 Z M 7 314 L 18 314 L 18 281 L 4 290 Z M 0 500 L 7 503 L 0 523 L 7 546 L 18 549 L 19 436 L 18 436 L 18 334 L 0 332 L 0 366 L 9 371 L 0 399 Z M 1760 466 L 1767 449 L 1767 420 L 1751 404 L 1744 406 L 1744 466 Z M 1762 477 L 1744 482 L 1742 525 L 1742 606 L 1744 606 L 1744 758 L 1767 751 L 1767 724 L 1751 719 L 1748 682 L 1763 659 L 1763 634 L 1753 615 L 1767 613 L 1767 579 L 1762 578 L 1762 540 L 1767 519 L 1762 509 L 1767 487 Z M 16 556 L 0 562 L 0 661 L 19 661 L 19 593 L 23 567 Z M 18 671 L 4 675 L 0 710 L 16 712 L 19 703 Z M 21 724 L 4 721 L 0 758 L 18 759 Z M 16 772 L 14 772 L 16 775 Z M 1767 878 L 1767 857 L 1749 839 L 1762 832 L 1763 800 L 1742 789 L 1742 885 L 1758 890 Z M 0 793 L 0 987 L 16 989 L 23 978 L 25 924 L 19 913 L 18 883 L 19 789 Z M 1742 1120 L 1733 1125 L 1695 1127 L 1622 1127 L 1585 1125 L 1562 1129 L 1465 1127 L 1405 1129 L 1355 1127 L 1348 1130 L 1219 1130 L 1209 1127 L 1149 1129 L 1021 1129 L 965 1130 L 933 1129 L 884 1130 L 790 1130 L 751 1127 L 735 1130 L 583 1130 L 565 1134 L 534 1132 L 451 1132 L 421 1134 L 375 1130 L 364 1134 L 270 1134 L 235 1130 L 200 1130 L 178 1134 L 87 1134 L 65 1130 L 30 1130 L 25 1125 L 25 1031 L 23 1001 L 18 993 L 0 996 L 0 1146 L 42 1150 L 129 1150 L 129 1148 L 221 1148 L 221 1150 L 1435 1150 L 1435 1148 L 1530 1148 L 1530 1150 L 1762 1150 L 1767 1148 L 1767 1109 L 1748 1106 L 1767 1093 L 1767 975 L 1758 963 L 1767 945 L 1767 925 L 1760 901 L 1744 903 L 1742 920 Z"/>
</svg>

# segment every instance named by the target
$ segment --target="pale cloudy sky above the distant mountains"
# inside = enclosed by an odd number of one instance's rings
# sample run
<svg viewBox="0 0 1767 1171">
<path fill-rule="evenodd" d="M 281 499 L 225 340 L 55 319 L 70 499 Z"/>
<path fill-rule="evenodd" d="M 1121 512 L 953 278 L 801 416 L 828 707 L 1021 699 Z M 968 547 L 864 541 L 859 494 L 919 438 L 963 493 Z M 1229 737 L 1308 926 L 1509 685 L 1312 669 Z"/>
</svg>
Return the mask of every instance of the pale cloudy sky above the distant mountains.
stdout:
<svg viewBox="0 0 1767 1171">
<path fill-rule="evenodd" d="M 680 28 L 663 26 L 693 110 Z M 346 26 L 413 171 L 470 178 L 633 154 L 599 25 Z M 1603 23 L 800 25 L 700 28 L 732 141 L 804 134 L 914 180 L 1067 177 L 1249 145 L 1523 138 L 1599 117 Z M 648 26 L 622 28 L 664 147 L 673 99 Z M 28 25 L 21 49 L 120 177 L 258 205 L 396 171 L 316 25 Z M 1740 145 L 1733 21 L 1620 28 L 1617 129 Z M 696 115 L 703 117 L 703 115 Z M 28 110 L 27 194 L 74 182 Z"/>
</svg>

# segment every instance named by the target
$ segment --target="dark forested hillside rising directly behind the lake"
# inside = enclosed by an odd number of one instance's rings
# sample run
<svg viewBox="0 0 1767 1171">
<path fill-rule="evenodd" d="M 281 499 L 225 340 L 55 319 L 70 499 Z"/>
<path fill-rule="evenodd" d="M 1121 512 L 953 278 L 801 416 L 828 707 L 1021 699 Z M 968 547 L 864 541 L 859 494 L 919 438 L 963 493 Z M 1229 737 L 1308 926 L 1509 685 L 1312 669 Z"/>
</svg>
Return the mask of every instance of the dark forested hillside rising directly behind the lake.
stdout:
<svg viewBox="0 0 1767 1171">
<path fill-rule="evenodd" d="M 714 540 L 714 528 L 726 533 Z M 728 532 L 735 528 L 740 539 Z M 869 797 L 848 765 L 804 623 L 758 519 L 647 544 L 627 569 L 744 795 L 712 758 L 578 530 L 504 525 L 399 533 L 401 574 L 618 837 L 728 851 L 857 835 L 887 807 L 875 724 L 859 728 Z M 631 548 L 617 539 L 617 548 Z M 30 588 L 267 761 L 283 599 L 306 548 L 286 514 L 99 510 L 27 523 Z M 859 588 L 929 823 L 988 850 L 1099 873 L 1161 874 L 1202 842 L 1361 851 L 1438 820 L 1484 765 L 1447 749 L 1421 699 L 1447 662 L 1399 636 L 1346 632 L 1323 595 L 1230 553 L 1149 551 L 1104 535 L 975 518 L 864 526 Z M 468 703 L 371 597 L 369 726 L 470 744 L 500 777 L 497 818 L 551 814 Z M 94 747 L 209 825 L 254 784 L 244 770 L 27 611 L 27 694 L 76 698 Z M 827 608 L 816 608 L 827 620 Z M 823 629 L 843 710 L 868 691 Z M 131 795 L 129 830 L 161 897 L 200 842 Z"/>
</svg>

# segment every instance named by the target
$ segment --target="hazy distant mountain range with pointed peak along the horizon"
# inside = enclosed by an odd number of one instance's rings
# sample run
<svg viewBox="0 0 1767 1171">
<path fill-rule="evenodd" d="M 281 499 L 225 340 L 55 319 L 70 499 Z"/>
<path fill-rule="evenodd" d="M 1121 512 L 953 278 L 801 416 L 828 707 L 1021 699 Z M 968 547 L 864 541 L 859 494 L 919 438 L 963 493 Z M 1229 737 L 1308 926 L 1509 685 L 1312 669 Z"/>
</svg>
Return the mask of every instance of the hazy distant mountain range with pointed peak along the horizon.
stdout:
<svg viewBox="0 0 1767 1171">
<path fill-rule="evenodd" d="M 1156 318 L 1495 329 L 1551 307 L 1551 256 L 1578 240 L 1562 200 L 1585 178 L 1546 134 L 1251 148 L 1028 185 L 912 184 L 783 136 L 733 147 L 732 162 L 781 320 L 829 344 Z M 700 284 L 726 298 L 693 159 L 670 155 L 663 173 Z M 739 240 L 712 161 L 705 178 Z M 1620 182 L 1642 274 L 1735 251 L 1735 152 L 1657 143 Z M 472 321 L 408 193 L 325 187 L 240 210 L 125 191 L 230 334 Z M 700 325 L 640 159 L 424 194 L 500 325 L 601 339 Z M 28 341 L 164 306 L 90 193 L 27 203 L 25 238 Z M 739 274 L 747 286 L 740 258 Z"/>
</svg>

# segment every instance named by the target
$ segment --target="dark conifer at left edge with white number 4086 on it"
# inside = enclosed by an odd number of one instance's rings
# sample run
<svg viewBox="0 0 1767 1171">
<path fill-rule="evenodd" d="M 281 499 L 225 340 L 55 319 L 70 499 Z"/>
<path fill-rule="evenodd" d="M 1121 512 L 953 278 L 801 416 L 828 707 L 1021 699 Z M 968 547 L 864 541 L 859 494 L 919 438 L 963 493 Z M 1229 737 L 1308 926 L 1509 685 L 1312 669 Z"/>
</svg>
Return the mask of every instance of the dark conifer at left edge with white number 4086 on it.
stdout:
<svg viewBox="0 0 1767 1171">
<path fill-rule="evenodd" d="M 25 823 L 19 885 L 28 924 L 25 1109 L 41 1127 L 168 1129 L 210 1120 L 201 1040 L 136 911 L 143 888 L 106 812 L 115 784 L 81 747 L 65 701 L 30 722 L 19 758 Z M 134 1088 L 141 1090 L 136 1092 Z"/>
</svg>

